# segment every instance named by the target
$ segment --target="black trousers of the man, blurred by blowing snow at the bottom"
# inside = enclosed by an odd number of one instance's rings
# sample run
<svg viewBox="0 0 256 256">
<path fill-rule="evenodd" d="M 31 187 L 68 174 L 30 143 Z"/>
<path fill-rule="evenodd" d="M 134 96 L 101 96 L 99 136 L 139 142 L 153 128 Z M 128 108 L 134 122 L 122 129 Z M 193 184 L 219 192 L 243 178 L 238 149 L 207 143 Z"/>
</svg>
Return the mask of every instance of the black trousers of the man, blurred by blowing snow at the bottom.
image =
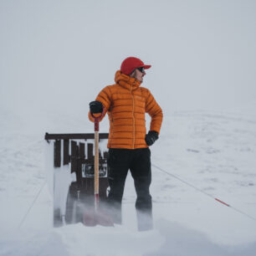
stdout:
<svg viewBox="0 0 256 256">
<path fill-rule="evenodd" d="M 108 156 L 108 175 L 110 192 L 108 204 L 115 223 L 121 223 L 121 202 L 128 170 L 136 188 L 136 212 L 139 230 L 152 228 L 151 151 L 149 148 L 110 149 Z"/>
</svg>

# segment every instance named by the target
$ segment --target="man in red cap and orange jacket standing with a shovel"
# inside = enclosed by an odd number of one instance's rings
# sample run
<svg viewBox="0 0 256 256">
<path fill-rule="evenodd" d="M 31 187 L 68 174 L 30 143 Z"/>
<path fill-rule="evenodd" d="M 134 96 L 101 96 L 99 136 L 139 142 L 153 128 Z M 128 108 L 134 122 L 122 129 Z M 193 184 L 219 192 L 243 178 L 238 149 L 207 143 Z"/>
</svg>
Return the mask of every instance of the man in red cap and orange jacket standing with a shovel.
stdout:
<svg viewBox="0 0 256 256">
<path fill-rule="evenodd" d="M 125 59 L 115 73 L 115 84 L 100 91 L 95 101 L 90 102 L 91 114 L 106 113 L 110 120 L 108 175 L 110 192 L 108 205 L 114 223 L 121 223 L 121 201 L 125 178 L 131 171 L 136 188 L 136 212 L 138 229 L 152 228 L 151 146 L 159 136 L 162 122 L 161 107 L 150 90 L 141 87 L 151 65 L 141 59 Z M 150 131 L 146 134 L 145 113 L 151 115 Z M 100 114 L 99 114 L 100 115 Z"/>
</svg>

